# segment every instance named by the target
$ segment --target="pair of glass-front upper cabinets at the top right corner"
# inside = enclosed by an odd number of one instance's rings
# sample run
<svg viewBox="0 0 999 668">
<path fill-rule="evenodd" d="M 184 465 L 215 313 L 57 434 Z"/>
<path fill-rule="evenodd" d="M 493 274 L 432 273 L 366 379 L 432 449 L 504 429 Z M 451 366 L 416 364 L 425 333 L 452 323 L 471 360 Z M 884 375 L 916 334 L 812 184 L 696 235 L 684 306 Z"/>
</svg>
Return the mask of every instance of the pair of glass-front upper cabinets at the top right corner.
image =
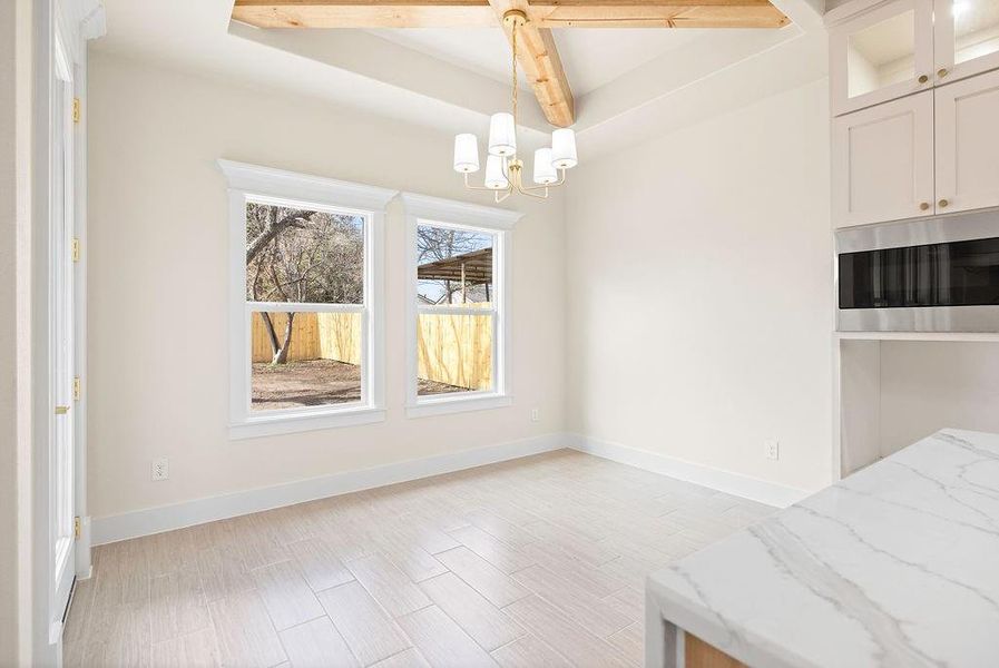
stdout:
<svg viewBox="0 0 999 668">
<path fill-rule="evenodd" d="M 999 0 L 853 0 L 826 21 L 835 116 L 999 68 Z"/>
</svg>

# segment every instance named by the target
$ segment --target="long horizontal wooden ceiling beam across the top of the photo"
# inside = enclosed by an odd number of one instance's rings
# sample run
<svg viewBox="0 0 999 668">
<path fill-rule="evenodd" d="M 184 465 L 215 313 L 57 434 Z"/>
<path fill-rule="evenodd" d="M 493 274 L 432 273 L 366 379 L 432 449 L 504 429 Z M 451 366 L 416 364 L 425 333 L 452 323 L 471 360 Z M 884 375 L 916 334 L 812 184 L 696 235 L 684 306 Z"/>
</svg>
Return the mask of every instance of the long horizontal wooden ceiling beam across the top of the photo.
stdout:
<svg viewBox="0 0 999 668">
<path fill-rule="evenodd" d="M 790 22 L 770 0 L 531 0 L 517 4 L 536 28 L 780 28 Z M 236 0 L 233 19 L 258 28 L 500 23 L 489 0 Z"/>
</svg>

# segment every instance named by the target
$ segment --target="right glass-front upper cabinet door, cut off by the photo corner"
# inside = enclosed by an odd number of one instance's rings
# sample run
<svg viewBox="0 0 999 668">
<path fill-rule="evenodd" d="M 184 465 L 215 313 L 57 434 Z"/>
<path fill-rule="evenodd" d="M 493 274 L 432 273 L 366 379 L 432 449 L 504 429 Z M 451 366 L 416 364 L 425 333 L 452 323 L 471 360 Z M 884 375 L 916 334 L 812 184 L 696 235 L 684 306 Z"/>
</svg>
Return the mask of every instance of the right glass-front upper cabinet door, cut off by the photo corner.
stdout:
<svg viewBox="0 0 999 668">
<path fill-rule="evenodd" d="M 999 0 L 936 0 L 937 85 L 999 68 Z"/>
</svg>

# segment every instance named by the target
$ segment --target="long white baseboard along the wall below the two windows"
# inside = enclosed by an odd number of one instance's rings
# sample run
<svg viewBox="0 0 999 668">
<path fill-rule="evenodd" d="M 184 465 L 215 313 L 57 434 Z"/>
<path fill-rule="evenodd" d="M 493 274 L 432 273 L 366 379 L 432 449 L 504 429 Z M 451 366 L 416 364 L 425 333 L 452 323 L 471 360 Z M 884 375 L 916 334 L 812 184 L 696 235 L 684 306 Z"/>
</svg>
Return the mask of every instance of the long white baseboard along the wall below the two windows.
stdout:
<svg viewBox="0 0 999 668">
<path fill-rule="evenodd" d="M 546 434 L 439 454 L 419 460 L 385 464 L 361 471 L 334 473 L 280 485 L 234 492 L 221 497 L 195 499 L 172 505 L 148 508 L 105 518 L 94 518 L 91 522 L 92 544 L 99 546 L 151 533 L 161 533 L 203 524 L 225 518 L 233 518 L 262 510 L 293 505 L 315 499 L 358 492 L 398 482 L 419 480 L 431 475 L 451 473 L 484 464 L 550 452 L 567 448 L 564 434 Z"/>
</svg>

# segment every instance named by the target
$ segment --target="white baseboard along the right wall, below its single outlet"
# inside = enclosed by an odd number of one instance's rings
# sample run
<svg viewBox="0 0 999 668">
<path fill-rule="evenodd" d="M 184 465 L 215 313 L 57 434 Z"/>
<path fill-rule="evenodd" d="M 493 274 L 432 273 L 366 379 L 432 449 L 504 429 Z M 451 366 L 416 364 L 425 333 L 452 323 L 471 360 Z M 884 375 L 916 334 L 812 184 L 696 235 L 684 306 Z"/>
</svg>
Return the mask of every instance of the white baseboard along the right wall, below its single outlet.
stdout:
<svg viewBox="0 0 999 668">
<path fill-rule="evenodd" d="M 685 460 L 649 452 L 647 450 L 638 450 L 619 443 L 601 441 L 591 436 L 581 434 L 567 434 L 565 443 L 588 454 L 609 459 L 615 462 L 660 473 L 686 482 L 701 484 L 719 492 L 742 497 L 767 505 L 776 505 L 778 508 L 787 508 L 793 503 L 797 503 L 811 492 L 799 490 L 796 488 L 785 487 L 750 478 L 740 473 L 732 473 L 721 469 L 713 469 L 703 464 L 695 464 Z"/>
</svg>

